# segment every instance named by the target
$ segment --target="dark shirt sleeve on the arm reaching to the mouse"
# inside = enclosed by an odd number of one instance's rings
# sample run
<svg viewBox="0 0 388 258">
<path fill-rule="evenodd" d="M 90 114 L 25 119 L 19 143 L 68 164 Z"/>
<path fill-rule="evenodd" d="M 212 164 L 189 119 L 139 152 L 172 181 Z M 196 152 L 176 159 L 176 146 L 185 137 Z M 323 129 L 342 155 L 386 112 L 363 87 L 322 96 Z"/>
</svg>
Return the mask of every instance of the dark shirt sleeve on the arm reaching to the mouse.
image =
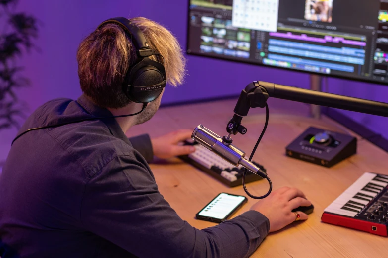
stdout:
<svg viewBox="0 0 388 258">
<path fill-rule="evenodd" d="M 159 193 L 146 166 L 131 156 L 113 159 L 86 184 L 81 206 L 86 230 L 138 257 L 250 256 L 269 231 L 269 220 L 249 211 L 198 230 Z"/>
</svg>

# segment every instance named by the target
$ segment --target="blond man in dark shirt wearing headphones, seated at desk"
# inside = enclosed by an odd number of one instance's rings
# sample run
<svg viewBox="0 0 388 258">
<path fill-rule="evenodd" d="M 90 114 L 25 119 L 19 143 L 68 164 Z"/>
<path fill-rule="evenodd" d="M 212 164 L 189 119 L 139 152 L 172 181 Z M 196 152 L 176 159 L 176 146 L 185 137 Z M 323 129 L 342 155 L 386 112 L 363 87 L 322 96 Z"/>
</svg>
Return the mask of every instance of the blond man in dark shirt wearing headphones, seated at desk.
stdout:
<svg viewBox="0 0 388 258">
<path fill-rule="evenodd" d="M 13 141 L 0 179 L 0 256 L 247 257 L 268 232 L 309 206 L 288 187 L 251 211 L 198 230 L 159 193 L 148 163 L 192 152 L 181 131 L 150 140 L 125 131 L 158 110 L 185 59 L 161 25 L 137 17 L 101 23 L 77 52 L 83 95 L 39 107 Z"/>
</svg>

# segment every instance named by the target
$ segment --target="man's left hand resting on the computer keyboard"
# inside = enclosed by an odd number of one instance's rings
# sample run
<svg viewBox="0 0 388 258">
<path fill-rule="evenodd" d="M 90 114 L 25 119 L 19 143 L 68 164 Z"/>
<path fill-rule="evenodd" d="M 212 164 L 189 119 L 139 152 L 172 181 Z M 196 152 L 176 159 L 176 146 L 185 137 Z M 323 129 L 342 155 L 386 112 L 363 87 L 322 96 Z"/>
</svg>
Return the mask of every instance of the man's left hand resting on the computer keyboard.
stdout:
<svg viewBox="0 0 388 258">
<path fill-rule="evenodd" d="M 194 152 L 193 146 L 179 145 L 180 142 L 190 139 L 192 133 L 193 130 L 178 130 L 151 139 L 154 155 L 159 159 L 168 159 Z"/>
</svg>

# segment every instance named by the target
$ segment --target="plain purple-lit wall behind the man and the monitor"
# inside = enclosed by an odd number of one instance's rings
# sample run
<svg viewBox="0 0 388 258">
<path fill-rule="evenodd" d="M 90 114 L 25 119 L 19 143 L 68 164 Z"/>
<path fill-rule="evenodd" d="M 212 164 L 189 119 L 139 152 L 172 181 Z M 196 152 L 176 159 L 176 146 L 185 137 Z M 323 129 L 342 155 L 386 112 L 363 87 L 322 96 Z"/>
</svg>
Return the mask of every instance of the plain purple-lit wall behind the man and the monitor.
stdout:
<svg viewBox="0 0 388 258">
<path fill-rule="evenodd" d="M 20 61 L 33 85 L 19 92 L 31 113 L 44 102 L 57 98 L 77 98 L 81 91 L 77 77 L 75 53 L 88 33 L 104 19 L 113 16 L 144 16 L 166 26 L 186 45 L 187 0 L 20 0 L 19 9 L 35 15 L 41 22 L 37 45 L 41 52 L 24 55 Z M 307 87 L 306 74 L 239 64 L 197 56 L 187 56 L 188 76 L 178 88 L 167 87 L 163 103 L 181 102 L 219 96 L 237 95 L 248 83 L 261 80 L 277 84 Z M 230 76 L 232 75 L 232 76 Z M 388 88 L 330 79 L 334 93 L 384 101 Z M 233 107 L 231 107 L 232 109 Z M 385 119 L 356 116 L 358 121 L 385 133 Z M 14 129 L 0 132 L 0 160 L 6 158 Z M 386 133 L 388 137 L 388 133 Z"/>
</svg>

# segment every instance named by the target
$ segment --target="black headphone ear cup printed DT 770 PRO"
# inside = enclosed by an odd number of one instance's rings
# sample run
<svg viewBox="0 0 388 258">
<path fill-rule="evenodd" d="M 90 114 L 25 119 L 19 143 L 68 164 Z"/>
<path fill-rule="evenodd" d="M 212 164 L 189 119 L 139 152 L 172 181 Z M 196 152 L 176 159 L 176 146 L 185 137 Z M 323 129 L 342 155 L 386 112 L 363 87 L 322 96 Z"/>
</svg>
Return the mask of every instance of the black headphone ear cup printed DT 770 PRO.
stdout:
<svg viewBox="0 0 388 258">
<path fill-rule="evenodd" d="M 147 60 L 147 62 L 140 62 L 136 64 L 130 71 L 129 84 L 127 85 L 127 97 L 136 103 L 149 103 L 154 101 L 163 92 L 166 86 L 164 75 L 164 67 L 161 72 L 153 65 L 146 65 L 155 62 Z M 158 62 L 155 62 L 160 64 Z M 155 89 L 153 89 L 155 87 Z"/>
</svg>

